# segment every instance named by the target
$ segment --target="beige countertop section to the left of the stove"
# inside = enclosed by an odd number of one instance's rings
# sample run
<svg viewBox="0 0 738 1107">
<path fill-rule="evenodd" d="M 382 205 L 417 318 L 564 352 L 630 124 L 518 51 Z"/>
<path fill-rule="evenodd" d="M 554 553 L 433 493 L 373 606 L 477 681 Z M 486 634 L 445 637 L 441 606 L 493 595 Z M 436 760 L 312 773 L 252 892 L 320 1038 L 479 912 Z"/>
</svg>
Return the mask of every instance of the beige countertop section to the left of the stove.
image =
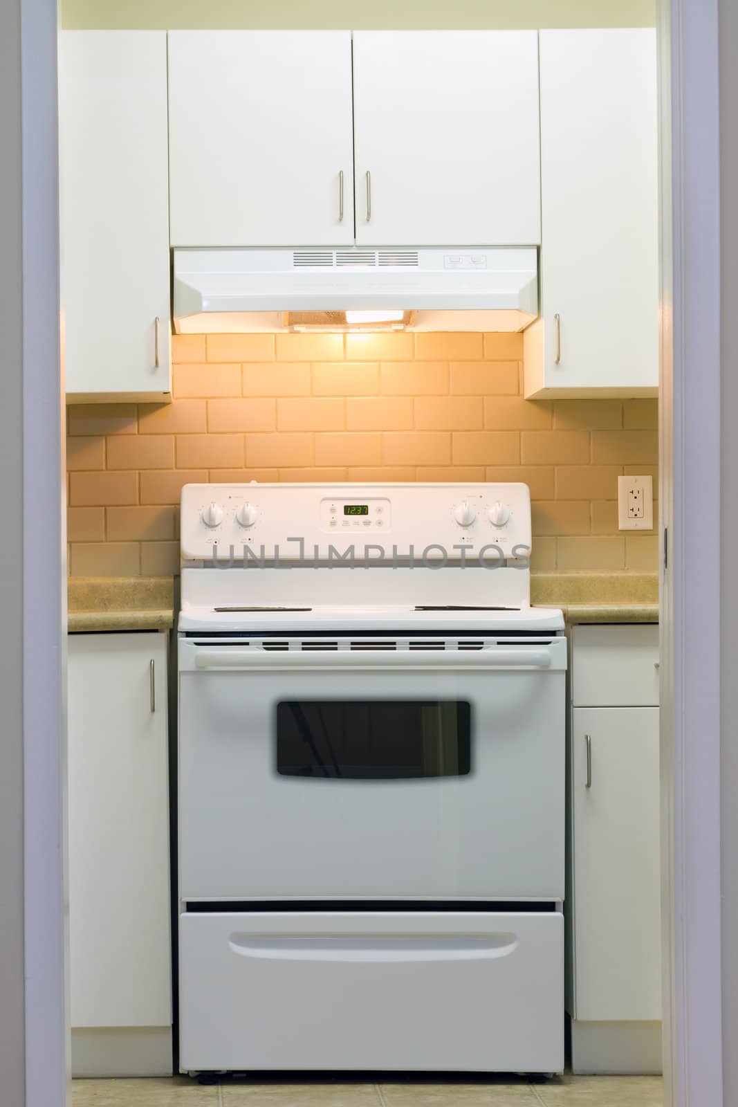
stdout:
<svg viewBox="0 0 738 1107">
<path fill-rule="evenodd" d="M 171 577 L 70 577 L 69 630 L 168 630 L 174 625 Z"/>
</svg>

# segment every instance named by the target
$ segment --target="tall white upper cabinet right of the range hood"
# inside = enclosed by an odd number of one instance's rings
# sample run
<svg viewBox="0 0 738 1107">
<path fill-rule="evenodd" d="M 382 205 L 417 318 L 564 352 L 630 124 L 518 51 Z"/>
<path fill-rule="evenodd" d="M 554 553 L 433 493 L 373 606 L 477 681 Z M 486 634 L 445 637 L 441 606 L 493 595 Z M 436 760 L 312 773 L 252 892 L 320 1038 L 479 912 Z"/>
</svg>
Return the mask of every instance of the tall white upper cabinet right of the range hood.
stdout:
<svg viewBox="0 0 738 1107">
<path fill-rule="evenodd" d="M 541 318 L 526 395 L 658 385 L 656 35 L 541 31 Z"/>
</svg>

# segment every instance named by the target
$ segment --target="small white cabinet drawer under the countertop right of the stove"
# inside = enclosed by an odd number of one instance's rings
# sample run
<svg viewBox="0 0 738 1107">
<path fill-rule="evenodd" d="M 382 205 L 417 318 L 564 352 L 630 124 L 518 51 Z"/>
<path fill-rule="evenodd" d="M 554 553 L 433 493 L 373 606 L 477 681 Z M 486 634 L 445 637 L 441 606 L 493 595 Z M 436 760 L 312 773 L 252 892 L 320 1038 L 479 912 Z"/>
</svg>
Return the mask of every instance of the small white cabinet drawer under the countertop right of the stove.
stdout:
<svg viewBox="0 0 738 1107">
<path fill-rule="evenodd" d="M 575 707 L 657 707 L 658 627 L 575 627 L 572 703 Z"/>
</svg>

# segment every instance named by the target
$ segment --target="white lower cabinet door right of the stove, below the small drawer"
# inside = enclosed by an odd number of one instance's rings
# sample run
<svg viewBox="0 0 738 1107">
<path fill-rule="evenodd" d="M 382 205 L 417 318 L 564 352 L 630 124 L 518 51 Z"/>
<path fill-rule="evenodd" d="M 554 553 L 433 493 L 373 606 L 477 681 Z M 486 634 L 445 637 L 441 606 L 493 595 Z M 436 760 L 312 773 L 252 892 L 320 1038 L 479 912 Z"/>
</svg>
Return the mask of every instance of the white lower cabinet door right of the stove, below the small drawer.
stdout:
<svg viewBox="0 0 738 1107">
<path fill-rule="evenodd" d="M 662 1017 L 657 707 L 573 712 L 575 1017 Z"/>
</svg>

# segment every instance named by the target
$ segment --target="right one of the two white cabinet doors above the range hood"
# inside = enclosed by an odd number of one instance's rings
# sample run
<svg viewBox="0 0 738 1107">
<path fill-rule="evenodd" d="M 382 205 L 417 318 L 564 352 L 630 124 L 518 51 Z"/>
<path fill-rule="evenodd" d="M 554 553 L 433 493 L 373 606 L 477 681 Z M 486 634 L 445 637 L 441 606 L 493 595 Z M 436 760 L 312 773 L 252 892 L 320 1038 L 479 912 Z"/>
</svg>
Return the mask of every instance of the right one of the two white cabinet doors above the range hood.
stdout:
<svg viewBox="0 0 738 1107">
<path fill-rule="evenodd" d="M 356 241 L 540 242 L 536 31 L 354 33 Z"/>
</svg>

